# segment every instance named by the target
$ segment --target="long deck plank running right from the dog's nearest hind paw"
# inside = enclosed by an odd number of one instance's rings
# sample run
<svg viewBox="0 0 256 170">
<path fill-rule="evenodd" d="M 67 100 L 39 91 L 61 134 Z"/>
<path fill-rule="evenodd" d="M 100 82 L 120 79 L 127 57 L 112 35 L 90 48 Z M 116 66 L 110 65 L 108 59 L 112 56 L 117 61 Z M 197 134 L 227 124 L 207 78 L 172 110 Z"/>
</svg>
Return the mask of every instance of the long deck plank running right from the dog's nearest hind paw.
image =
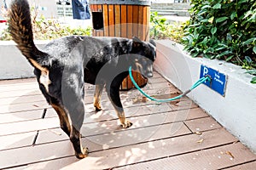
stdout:
<svg viewBox="0 0 256 170">
<path fill-rule="evenodd" d="M 164 156 L 175 156 L 194 150 L 203 150 L 206 148 L 210 148 L 214 145 L 229 144 L 234 140 L 234 137 L 230 136 L 230 134 L 224 130 L 212 131 L 212 133 L 207 133 L 207 135 L 205 135 L 205 138 L 208 139 L 205 144 L 196 143 L 195 141 L 198 140 L 198 136 L 195 134 L 191 134 L 172 139 L 161 139 L 149 143 L 132 144 L 101 151 L 94 151 L 95 148 L 90 147 L 90 144 L 87 144 L 92 151 L 88 157 L 89 159 L 85 158 L 81 161 L 73 162 L 71 161 L 71 159 L 73 158 L 67 157 L 63 159 L 53 160 L 55 161 L 54 163 L 48 161 L 47 165 L 63 167 L 63 169 L 77 169 L 79 167 L 86 167 L 88 169 L 108 169 L 141 161 L 150 161 L 152 159 L 158 159 Z M 61 143 L 58 144 L 58 147 L 67 147 Z M 47 148 L 44 148 L 44 150 L 45 149 Z M 63 150 L 60 150 L 59 152 L 61 153 L 55 154 L 55 157 L 56 155 L 59 156 L 60 154 L 62 154 L 61 156 L 68 155 L 67 151 L 65 153 Z M 20 151 L 18 153 L 20 153 Z M 45 153 L 42 153 L 41 156 L 41 159 L 44 160 L 45 156 L 43 155 L 45 155 Z M 66 161 L 69 162 L 69 166 L 67 166 L 67 164 L 65 166 L 61 166 L 61 164 L 65 164 L 64 162 Z M 39 164 L 34 164 L 31 165 L 31 167 L 36 165 L 39 166 Z"/>
</svg>

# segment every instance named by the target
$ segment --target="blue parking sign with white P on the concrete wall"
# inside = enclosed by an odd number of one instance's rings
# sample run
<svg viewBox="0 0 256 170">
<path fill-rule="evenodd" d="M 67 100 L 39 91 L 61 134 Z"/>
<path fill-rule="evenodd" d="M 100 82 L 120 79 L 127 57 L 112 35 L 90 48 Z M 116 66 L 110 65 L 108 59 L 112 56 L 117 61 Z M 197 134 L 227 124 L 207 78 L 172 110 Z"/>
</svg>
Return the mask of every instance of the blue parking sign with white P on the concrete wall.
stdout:
<svg viewBox="0 0 256 170">
<path fill-rule="evenodd" d="M 210 76 L 211 82 L 204 82 L 209 88 L 216 91 L 218 94 L 224 96 L 227 77 L 224 73 L 215 71 L 214 69 L 207 67 L 206 65 L 201 65 L 200 77 Z"/>
</svg>

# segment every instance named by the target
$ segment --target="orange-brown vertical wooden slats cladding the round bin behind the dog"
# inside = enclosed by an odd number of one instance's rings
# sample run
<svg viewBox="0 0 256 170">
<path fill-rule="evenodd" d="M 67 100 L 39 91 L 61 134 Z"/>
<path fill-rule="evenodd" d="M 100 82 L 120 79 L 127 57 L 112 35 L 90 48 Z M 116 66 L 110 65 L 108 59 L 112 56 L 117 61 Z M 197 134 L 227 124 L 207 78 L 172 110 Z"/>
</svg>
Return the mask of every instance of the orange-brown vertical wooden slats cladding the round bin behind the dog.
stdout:
<svg viewBox="0 0 256 170">
<path fill-rule="evenodd" d="M 141 5 L 119 5 L 119 4 L 102 4 L 90 5 L 91 12 L 102 12 L 103 29 L 93 30 L 93 36 L 96 37 L 138 37 L 143 41 L 148 41 L 148 23 L 149 23 L 149 6 Z M 139 86 L 147 83 L 139 73 L 132 73 Z M 134 88 L 131 78 L 125 78 L 121 89 Z"/>
</svg>

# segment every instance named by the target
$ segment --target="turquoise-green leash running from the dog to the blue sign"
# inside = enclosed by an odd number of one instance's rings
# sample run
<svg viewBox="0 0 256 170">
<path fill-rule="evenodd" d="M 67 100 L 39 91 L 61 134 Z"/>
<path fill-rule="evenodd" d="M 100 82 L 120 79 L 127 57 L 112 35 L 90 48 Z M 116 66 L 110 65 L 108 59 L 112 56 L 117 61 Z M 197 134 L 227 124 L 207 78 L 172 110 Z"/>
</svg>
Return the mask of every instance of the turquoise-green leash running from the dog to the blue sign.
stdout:
<svg viewBox="0 0 256 170">
<path fill-rule="evenodd" d="M 197 82 L 195 82 L 195 84 L 189 88 L 189 90 L 185 91 L 183 94 L 181 95 L 178 95 L 177 97 L 174 97 L 174 98 L 171 98 L 171 99 L 154 99 L 153 97 L 149 96 L 148 94 L 146 94 L 142 88 L 140 88 L 138 85 L 137 85 L 137 82 L 135 82 L 134 78 L 132 77 L 132 74 L 131 74 L 131 66 L 129 67 L 129 76 L 131 77 L 131 82 L 133 83 L 133 85 L 144 95 L 146 96 L 148 99 L 151 99 L 153 101 L 156 101 L 156 102 L 168 102 L 168 101 L 173 101 L 175 99 L 180 99 L 182 98 L 183 96 L 189 94 L 193 89 L 195 89 L 196 87 L 198 87 L 199 85 L 201 85 L 201 83 L 203 82 L 206 82 L 206 81 L 209 81 L 211 82 L 211 78 L 209 76 L 207 77 L 201 77 L 201 79 L 199 79 Z"/>
</svg>

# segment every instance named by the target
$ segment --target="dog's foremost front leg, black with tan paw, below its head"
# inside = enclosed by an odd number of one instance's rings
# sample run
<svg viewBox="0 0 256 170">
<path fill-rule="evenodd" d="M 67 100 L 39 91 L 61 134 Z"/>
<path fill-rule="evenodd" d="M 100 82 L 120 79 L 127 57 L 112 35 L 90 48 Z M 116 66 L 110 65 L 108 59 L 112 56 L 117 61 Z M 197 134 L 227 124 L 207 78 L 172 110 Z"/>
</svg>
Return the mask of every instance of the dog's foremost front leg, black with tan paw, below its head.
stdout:
<svg viewBox="0 0 256 170">
<path fill-rule="evenodd" d="M 127 76 L 126 74 L 124 74 L 124 75 L 120 74 L 118 77 L 115 77 L 113 79 L 113 82 L 111 82 L 110 85 L 106 84 L 108 98 L 110 99 L 110 101 L 117 113 L 117 116 L 119 117 L 121 126 L 124 128 L 131 127 L 131 125 L 132 125 L 132 123 L 125 118 L 125 111 L 123 109 L 123 105 L 121 103 L 120 96 L 119 96 L 119 87 L 120 87 L 124 77 L 126 77 L 126 76 Z"/>
</svg>

